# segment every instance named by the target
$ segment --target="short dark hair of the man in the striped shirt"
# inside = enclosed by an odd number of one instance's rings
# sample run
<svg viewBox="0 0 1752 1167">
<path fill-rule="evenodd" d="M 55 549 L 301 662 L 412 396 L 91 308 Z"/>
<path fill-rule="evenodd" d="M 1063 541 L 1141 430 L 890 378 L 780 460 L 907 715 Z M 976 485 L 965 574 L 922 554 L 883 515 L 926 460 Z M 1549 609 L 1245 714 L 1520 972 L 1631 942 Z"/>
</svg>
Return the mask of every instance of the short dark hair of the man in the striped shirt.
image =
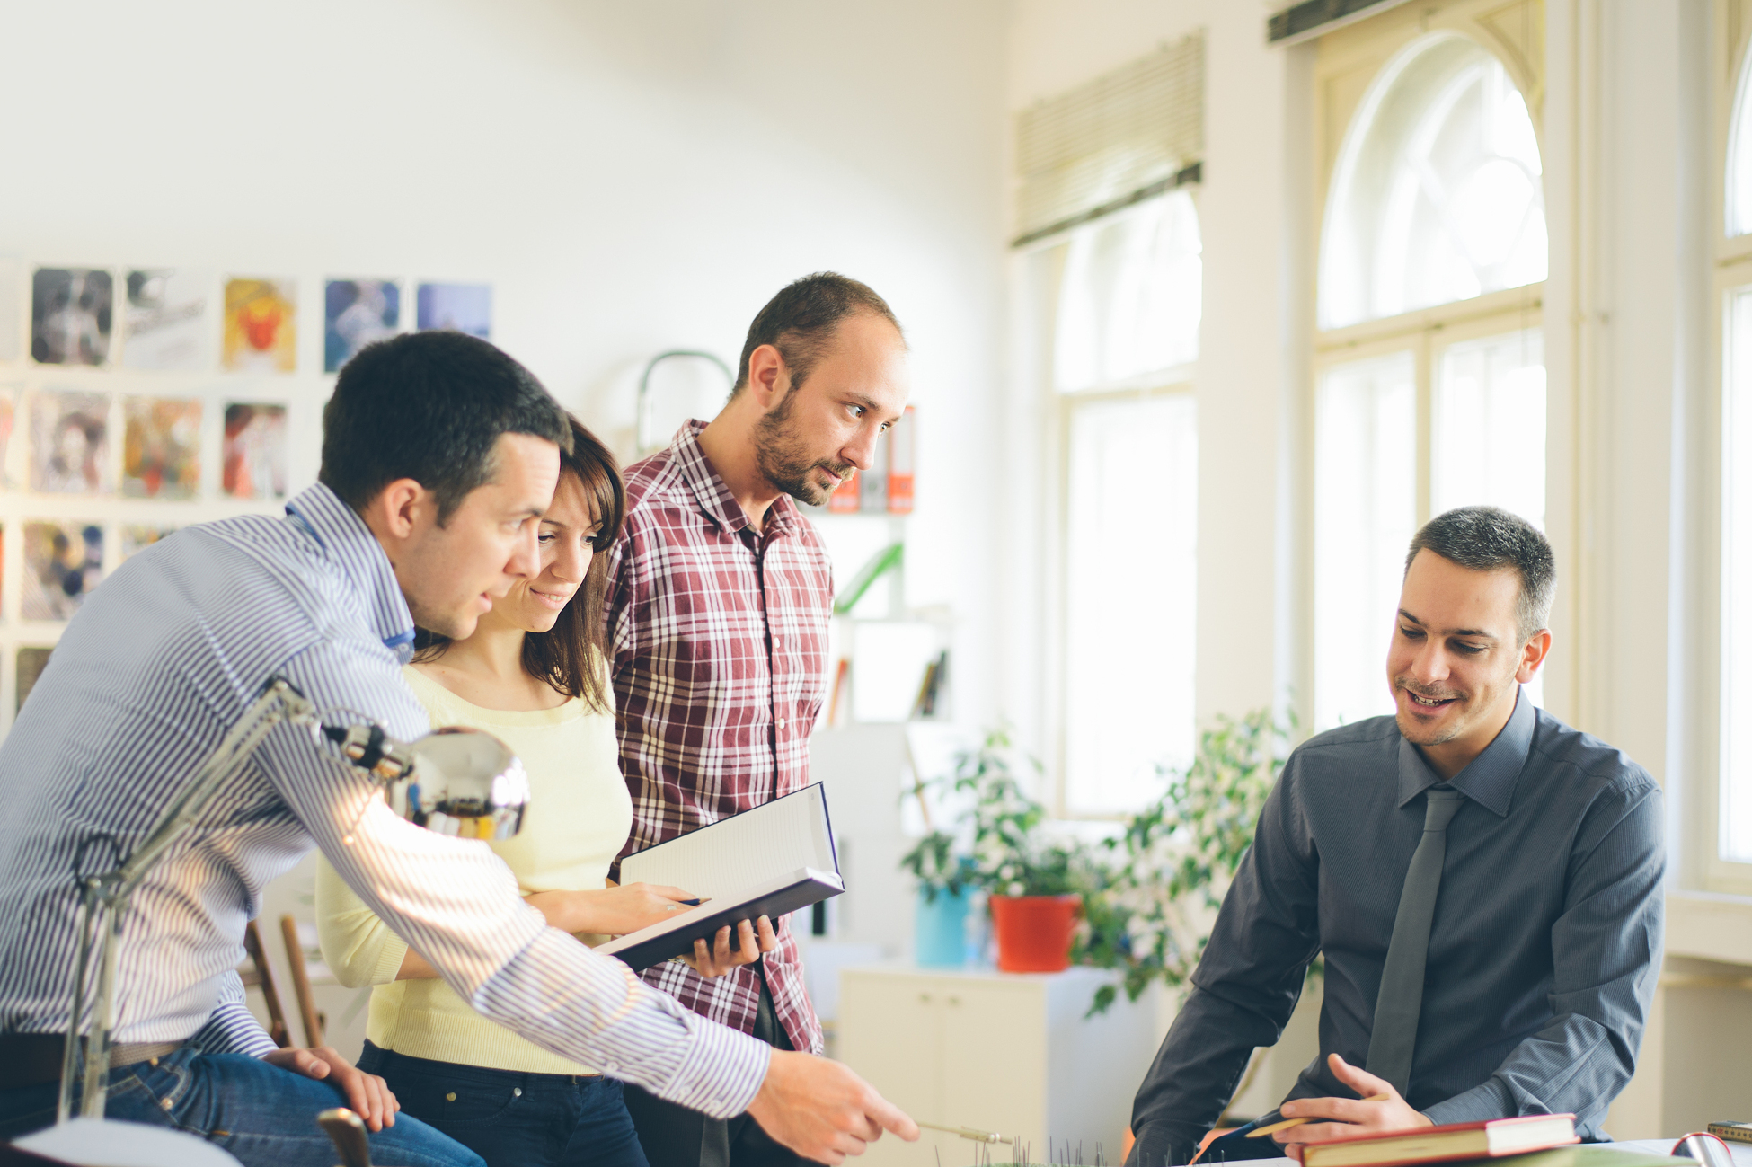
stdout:
<svg viewBox="0 0 1752 1167">
<path fill-rule="evenodd" d="M 492 478 L 505 433 L 547 438 L 571 452 L 566 410 L 527 368 L 466 333 L 408 333 L 366 345 L 322 407 L 317 480 L 363 512 L 398 478 L 438 496 L 449 522 Z"/>
</svg>

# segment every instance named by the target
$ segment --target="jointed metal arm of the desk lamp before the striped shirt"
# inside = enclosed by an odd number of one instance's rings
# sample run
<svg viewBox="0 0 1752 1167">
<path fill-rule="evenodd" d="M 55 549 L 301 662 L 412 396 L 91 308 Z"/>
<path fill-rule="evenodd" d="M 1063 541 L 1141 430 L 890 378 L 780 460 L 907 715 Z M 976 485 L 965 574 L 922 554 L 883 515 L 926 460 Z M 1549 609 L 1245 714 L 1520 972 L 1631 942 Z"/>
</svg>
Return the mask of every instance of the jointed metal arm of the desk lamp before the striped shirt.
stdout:
<svg viewBox="0 0 1752 1167">
<path fill-rule="evenodd" d="M 128 897 L 158 866 L 165 852 L 205 813 L 214 796 L 237 774 L 251 755 L 280 722 L 315 724 L 317 708 L 284 676 L 270 676 L 244 715 L 219 741 L 214 752 L 182 789 L 145 839 L 112 871 L 100 876 L 79 876 L 81 920 L 74 958 L 72 992 L 67 1011 L 67 1050 L 61 1062 L 61 1093 L 56 1102 L 56 1121 L 72 1116 L 74 1083 L 82 1079 L 79 1111 L 86 1118 L 103 1116 L 109 1090 L 110 1030 L 116 1008 L 116 958 L 121 948 L 121 929 L 128 913 Z M 91 994 L 91 972 L 96 969 L 96 994 Z M 91 1034 L 81 1057 L 81 1018 L 89 1002 Z M 84 1062 L 81 1072 L 81 1062 Z"/>
</svg>

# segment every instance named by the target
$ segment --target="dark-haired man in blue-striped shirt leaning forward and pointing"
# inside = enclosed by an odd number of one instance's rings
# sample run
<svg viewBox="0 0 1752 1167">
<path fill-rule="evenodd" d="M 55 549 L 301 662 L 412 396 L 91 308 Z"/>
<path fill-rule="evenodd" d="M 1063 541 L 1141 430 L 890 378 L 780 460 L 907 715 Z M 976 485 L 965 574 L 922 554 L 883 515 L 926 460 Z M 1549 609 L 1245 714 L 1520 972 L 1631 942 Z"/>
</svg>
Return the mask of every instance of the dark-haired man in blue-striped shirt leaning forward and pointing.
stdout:
<svg viewBox="0 0 1752 1167">
<path fill-rule="evenodd" d="M 373 345 L 342 371 L 322 422 L 321 480 L 284 519 L 187 527 L 93 592 L 0 746 L 0 1139 L 54 1116 L 75 866 L 131 852 L 270 676 L 328 717 L 426 732 L 399 673 L 415 622 L 464 638 L 492 596 L 538 569 L 538 520 L 571 435 L 508 356 L 459 333 Z M 249 1015 L 244 925 L 263 885 L 312 846 L 452 988 L 536 1044 L 680 1106 L 750 1111 L 823 1162 L 881 1127 L 915 1134 L 850 1071 L 703 1022 L 547 927 L 485 846 L 396 818 L 293 725 L 268 734 L 135 892 L 110 1116 L 196 1132 L 249 1167 L 328 1167 L 314 1118 L 347 1102 L 380 1162 L 480 1163 L 396 1121 L 380 1079 L 333 1050 L 277 1050 Z"/>
</svg>

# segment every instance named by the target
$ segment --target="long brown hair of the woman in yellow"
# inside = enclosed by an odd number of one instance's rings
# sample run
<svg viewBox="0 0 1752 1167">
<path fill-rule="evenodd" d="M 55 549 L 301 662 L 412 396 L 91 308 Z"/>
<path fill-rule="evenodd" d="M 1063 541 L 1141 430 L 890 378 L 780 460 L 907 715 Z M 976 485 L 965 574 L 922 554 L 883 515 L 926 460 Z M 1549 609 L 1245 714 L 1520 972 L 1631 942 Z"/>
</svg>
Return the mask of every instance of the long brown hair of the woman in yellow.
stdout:
<svg viewBox="0 0 1752 1167">
<path fill-rule="evenodd" d="M 613 690 L 608 687 L 608 648 L 603 631 L 603 603 L 608 596 L 608 555 L 620 536 L 627 517 L 627 487 L 620 480 L 620 466 L 594 433 L 571 417 L 571 454 L 561 454 L 561 475 L 576 475 L 590 513 L 603 524 L 590 540 L 590 569 L 583 575 L 571 603 L 561 608 L 559 619 L 547 633 L 524 634 L 524 671 L 545 680 L 568 697 L 601 713 L 615 710 Z M 450 647 L 449 636 L 415 629 L 413 661 L 436 661 Z"/>
</svg>

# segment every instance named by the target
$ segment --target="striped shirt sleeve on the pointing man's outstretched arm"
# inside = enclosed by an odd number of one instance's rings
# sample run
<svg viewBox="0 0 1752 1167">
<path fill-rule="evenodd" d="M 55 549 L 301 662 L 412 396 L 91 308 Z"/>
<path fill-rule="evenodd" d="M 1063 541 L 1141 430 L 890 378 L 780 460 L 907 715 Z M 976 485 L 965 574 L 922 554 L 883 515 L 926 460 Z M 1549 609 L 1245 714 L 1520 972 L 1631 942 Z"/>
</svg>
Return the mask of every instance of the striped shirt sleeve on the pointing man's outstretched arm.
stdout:
<svg viewBox="0 0 1752 1167">
<path fill-rule="evenodd" d="M 286 673 L 319 706 L 380 708 L 391 734 L 413 738 L 429 722 L 398 669 L 387 655 L 328 641 Z M 314 750 L 308 732 L 277 729 L 261 757 L 340 881 L 484 1016 L 715 1118 L 748 1107 L 766 1078 L 764 1043 L 687 1013 L 622 962 L 547 927 L 485 843 L 398 818 L 363 774 Z"/>
</svg>

